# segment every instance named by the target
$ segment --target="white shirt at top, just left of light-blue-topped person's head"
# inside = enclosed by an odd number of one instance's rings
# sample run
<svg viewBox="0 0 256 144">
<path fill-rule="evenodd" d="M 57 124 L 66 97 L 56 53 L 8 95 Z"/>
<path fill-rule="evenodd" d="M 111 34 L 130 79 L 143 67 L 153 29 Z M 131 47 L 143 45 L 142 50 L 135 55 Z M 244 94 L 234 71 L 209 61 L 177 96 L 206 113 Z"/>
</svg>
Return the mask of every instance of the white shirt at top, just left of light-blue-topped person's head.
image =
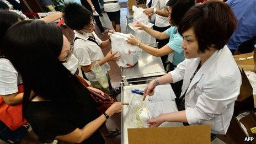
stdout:
<svg viewBox="0 0 256 144">
<path fill-rule="evenodd" d="M 168 1 L 169 0 L 157 0 L 154 7 L 156 7 L 157 9 L 160 9 L 160 10 L 164 10 L 164 9 L 166 9 L 166 4 Z M 163 17 L 161 15 L 156 14 L 156 20 L 154 22 L 154 25 L 162 28 L 162 27 L 169 26 L 170 23 L 168 22 L 168 17 Z"/>
</svg>

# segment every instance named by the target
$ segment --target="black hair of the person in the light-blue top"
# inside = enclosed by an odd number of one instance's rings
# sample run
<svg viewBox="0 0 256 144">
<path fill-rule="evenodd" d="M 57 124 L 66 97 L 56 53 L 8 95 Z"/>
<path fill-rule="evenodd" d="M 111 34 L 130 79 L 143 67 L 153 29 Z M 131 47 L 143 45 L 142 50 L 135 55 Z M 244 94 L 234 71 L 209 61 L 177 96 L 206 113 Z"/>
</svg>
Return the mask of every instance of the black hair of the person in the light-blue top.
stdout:
<svg viewBox="0 0 256 144">
<path fill-rule="evenodd" d="M 195 0 L 169 0 L 166 6 L 172 7 L 172 14 L 170 15 L 172 24 L 179 26 L 180 20 L 194 5 Z"/>
</svg>

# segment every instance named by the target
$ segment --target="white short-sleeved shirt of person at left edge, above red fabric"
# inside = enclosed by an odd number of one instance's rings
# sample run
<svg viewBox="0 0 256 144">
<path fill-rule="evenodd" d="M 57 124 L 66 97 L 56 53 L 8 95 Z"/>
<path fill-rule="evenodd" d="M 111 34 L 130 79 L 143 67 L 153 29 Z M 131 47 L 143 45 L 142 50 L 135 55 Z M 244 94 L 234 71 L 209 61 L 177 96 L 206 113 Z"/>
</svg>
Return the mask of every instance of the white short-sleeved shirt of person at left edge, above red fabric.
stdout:
<svg viewBox="0 0 256 144">
<path fill-rule="evenodd" d="M 17 93 L 19 84 L 22 84 L 22 78 L 12 63 L 0 58 L 0 95 Z"/>
</svg>

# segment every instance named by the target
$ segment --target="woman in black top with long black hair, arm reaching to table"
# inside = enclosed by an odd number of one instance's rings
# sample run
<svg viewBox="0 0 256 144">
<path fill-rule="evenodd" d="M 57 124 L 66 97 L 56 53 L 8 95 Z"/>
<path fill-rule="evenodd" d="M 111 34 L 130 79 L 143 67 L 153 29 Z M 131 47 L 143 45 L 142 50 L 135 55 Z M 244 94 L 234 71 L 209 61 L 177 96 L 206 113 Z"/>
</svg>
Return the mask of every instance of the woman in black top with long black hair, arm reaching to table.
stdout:
<svg viewBox="0 0 256 144">
<path fill-rule="evenodd" d="M 71 50 L 58 26 L 17 23 L 4 37 L 3 53 L 23 78 L 23 115 L 40 142 L 104 143 L 98 128 L 121 111 L 122 103 L 99 114 L 88 89 L 60 62 L 68 61 Z"/>
</svg>

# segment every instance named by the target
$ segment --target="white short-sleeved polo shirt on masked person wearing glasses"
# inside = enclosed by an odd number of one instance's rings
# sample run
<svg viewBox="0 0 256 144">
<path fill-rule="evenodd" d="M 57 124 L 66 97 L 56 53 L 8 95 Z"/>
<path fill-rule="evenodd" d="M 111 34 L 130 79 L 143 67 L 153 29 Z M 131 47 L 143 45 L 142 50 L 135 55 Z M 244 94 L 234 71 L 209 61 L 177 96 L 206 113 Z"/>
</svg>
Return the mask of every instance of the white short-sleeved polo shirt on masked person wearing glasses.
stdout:
<svg viewBox="0 0 256 144">
<path fill-rule="evenodd" d="M 89 35 L 93 35 L 95 38 L 95 41 L 98 42 L 98 45 L 95 44 L 93 41 L 89 41 Z M 74 30 L 74 37 L 79 38 L 76 41 L 74 41 L 74 56 L 77 57 L 78 63 L 80 66 L 88 66 L 92 64 L 95 61 L 102 60 L 104 58 L 102 49 L 100 49 L 99 45 L 102 44 L 102 40 L 98 38 L 98 36 L 94 33 L 78 33 L 76 30 Z M 102 66 L 102 70 L 107 73 L 110 70 L 110 67 L 108 63 L 104 63 Z M 95 78 L 95 74 L 93 71 L 85 72 L 86 77 L 89 79 L 89 81 L 97 82 L 97 79 Z"/>
</svg>

